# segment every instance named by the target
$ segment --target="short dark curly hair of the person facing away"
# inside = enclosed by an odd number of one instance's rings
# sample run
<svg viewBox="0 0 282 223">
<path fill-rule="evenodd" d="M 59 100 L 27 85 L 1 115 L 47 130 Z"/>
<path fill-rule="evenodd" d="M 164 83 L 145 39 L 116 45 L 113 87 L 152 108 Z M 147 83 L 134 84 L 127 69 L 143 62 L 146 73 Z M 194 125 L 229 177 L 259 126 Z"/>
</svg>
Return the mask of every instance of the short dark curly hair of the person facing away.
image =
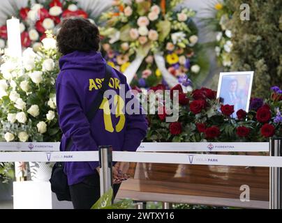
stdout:
<svg viewBox="0 0 282 223">
<path fill-rule="evenodd" d="M 70 17 L 61 22 L 61 29 L 57 35 L 57 47 L 61 54 L 91 50 L 98 51 L 100 35 L 98 27 L 89 20 L 81 17 Z"/>
</svg>

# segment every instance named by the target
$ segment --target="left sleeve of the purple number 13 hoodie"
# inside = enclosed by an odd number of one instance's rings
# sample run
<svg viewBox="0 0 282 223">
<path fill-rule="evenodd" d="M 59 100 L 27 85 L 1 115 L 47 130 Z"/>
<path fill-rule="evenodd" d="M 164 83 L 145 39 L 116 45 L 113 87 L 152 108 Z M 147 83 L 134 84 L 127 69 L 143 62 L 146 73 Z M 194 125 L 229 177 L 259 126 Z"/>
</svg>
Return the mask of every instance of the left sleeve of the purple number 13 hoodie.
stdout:
<svg viewBox="0 0 282 223">
<path fill-rule="evenodd" d="M 91 136 L 89 121 L 73 87 L 57 84 L 56 90 L 59 126 L 66 138 L 73 140 L 75 151 L 97 151 L 98 146 Z M 98 162 L 89 164 L 91 169 L 98 167 Z"/>
</svg>

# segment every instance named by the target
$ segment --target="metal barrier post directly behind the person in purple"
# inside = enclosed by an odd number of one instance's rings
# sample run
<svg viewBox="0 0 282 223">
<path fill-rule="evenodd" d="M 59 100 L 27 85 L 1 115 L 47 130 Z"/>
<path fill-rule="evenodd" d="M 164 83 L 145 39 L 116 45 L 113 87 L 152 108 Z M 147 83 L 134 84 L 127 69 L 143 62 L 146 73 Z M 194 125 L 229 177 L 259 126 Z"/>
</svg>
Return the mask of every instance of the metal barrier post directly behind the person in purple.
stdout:
<svg viewBox="0 0 282 223">
<path fill-rule="evenodd" d="M 112 187 L 112 146 L 99 146 L 99 162 L 100 192 L 102 197 Z"/>
</svg>

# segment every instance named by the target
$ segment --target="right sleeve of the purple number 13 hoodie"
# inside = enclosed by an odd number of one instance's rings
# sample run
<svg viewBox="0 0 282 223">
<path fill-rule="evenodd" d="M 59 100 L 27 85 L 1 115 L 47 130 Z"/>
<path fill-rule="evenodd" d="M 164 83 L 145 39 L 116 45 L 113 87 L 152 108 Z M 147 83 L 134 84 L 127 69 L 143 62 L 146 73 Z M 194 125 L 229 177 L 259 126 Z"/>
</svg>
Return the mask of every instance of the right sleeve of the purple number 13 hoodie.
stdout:
<svg viewBox="0 0 282 223">
<path fill-rule="evenodd" d="M 128 84 L 126 84 L 126 92 L 131 91 Z M 138 100 L 138 98 L 131 100 Z M 130 99 L 129 99 L 130 100 Z M 126 103 L 128 100 L 126 100 Z M 136 151 L 140 146 L 141 141 L 147 134 L 148 122 L 146 116 L 142 114 L 142 107 L 140 105 L 139 114 L 126 114 L 126 133 L 124 137 L 124 145 L 122 151 Z"/>
</svg>

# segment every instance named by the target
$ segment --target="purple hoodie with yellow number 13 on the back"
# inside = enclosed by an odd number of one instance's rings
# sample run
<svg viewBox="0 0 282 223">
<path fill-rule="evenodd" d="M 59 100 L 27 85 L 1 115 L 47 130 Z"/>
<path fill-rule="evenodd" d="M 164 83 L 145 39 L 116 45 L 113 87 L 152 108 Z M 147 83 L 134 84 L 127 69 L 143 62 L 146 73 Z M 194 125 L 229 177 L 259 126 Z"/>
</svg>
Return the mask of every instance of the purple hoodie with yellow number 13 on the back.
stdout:
<svg viewBox="0 0 282 223">
<path fill-rule="evenodd" d="M 75 51 L 59 60 L 61 72 L 57 77 L 56 90 L 59 125 L 64 133 L 61 151 L 70 138 L 73 140 L 71 151 L 98 151 L 99 145 L 112 145 L 114 151 L 136 151 L 144 139 L 148 127 L 144 115 L 111 114 L 109 118 L 103 109 L 98 109 L 91 123 L 87 120 L 87 111 L 103 84 L 105 63 L 101 54 L 94 51 Z M 119 84 L 126 84 L 126 77 L 112 69 L 108 89 L 119 94 Z M 82 182 L 85 176 L 94 174 L 96 167 L 98 162 L 66 162 L 64 171 L 68 185 Z"/>
</svg>

